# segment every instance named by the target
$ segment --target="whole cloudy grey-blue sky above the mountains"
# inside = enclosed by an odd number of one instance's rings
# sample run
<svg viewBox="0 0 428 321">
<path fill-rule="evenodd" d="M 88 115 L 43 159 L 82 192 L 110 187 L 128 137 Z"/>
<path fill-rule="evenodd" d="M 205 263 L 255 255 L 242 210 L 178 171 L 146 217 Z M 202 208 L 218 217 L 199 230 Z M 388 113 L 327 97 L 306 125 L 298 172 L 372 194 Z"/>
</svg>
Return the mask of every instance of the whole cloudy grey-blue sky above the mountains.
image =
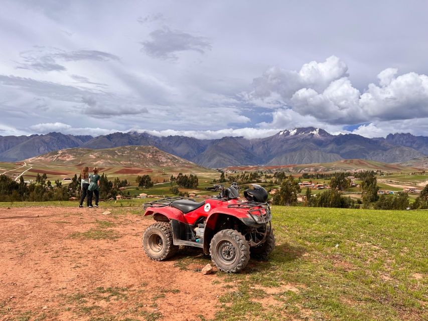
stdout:
<svg viewBox="0 0 428 321">
<path fill-rule="evenodd" d="M 2 1 L 0 135 L 428 136 L 428 3 Z"/>
</svg>

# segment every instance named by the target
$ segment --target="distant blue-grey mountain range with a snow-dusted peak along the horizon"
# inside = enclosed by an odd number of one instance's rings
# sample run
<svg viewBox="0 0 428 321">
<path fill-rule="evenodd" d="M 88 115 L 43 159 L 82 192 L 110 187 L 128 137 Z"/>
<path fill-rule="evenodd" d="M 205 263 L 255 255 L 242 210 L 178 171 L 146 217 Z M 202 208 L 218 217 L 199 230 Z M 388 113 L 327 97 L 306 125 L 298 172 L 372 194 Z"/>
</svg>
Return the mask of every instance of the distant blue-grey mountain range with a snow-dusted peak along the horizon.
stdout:
<svg viewBox="0 0 428 321">
<path fill-rule="evenodd" d="M 230 136 L 220 139 L 158 137 L 145 132 L 115 132 L 97 137 L 58 132 L 31 136 L 0 136 L 0 161 L 22 161 L 64 148 L 101 149 L 126 145 L 156 146 L 208 168 L 311 164 L 352 158 L 396 163 L 428 155 L 428 137 L 425 136 L 395 133 L 385 138 L 367 138 L 357 134 L 332 135 L 324 129 L 304 127 L 254 139 Z"/>
</svg>

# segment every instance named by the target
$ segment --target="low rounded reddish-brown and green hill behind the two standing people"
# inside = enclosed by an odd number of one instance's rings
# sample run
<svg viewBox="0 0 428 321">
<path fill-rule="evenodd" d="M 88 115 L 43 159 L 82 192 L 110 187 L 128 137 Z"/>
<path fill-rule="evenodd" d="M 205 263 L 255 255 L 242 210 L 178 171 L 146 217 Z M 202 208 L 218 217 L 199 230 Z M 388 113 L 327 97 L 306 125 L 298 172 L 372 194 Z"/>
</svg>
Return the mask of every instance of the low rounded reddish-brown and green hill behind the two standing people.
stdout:
<svg viewBox="0 0 428 321">
<path fill-rule="evenodd" d="M 26 165 L 24 165 L 26 164 Z M 109 179 L 119 177 L 135 184 L 137 175 L 148 174 L 153 181 L 163 182 L 178 173 L 196 174 L 204 180 L 218 179 L 219 173 L 169 154 L 154 146 L 121 146 L 106 149 L 67 148 L 28 158 L 21 163 L 0 163 L 6 175 L 18 177 L 24 171 L 25 180 L 34 180 L 37 173 L 46 173 L 48 180 L 63 180 L 88 166 L 98 167 Z M 0 174 L 3 172 L 0 172 Z"/>
</svg>

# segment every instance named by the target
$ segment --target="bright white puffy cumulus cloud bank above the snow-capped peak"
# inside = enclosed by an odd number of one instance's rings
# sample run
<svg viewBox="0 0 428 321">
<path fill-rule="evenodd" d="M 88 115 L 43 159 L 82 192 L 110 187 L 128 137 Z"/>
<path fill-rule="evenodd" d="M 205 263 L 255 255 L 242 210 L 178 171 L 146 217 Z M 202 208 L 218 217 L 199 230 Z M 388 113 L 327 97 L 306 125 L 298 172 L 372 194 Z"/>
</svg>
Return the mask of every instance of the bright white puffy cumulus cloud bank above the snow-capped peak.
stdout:
<svg viewBox="0 0 428 321">
<path fill-rule="evenodd" d="M 332 125 L 428 117 L 426 75 L 397 76 L 398 69 L 387 68 L 377 75 L 378 84 L 360 92 L 347 71 L 335 56 L 305 64 L 299 72 L 271 67 L 254 79 L 253 91 L 243 97 L 258 106 L 291 109 Z"/>
</svg>

